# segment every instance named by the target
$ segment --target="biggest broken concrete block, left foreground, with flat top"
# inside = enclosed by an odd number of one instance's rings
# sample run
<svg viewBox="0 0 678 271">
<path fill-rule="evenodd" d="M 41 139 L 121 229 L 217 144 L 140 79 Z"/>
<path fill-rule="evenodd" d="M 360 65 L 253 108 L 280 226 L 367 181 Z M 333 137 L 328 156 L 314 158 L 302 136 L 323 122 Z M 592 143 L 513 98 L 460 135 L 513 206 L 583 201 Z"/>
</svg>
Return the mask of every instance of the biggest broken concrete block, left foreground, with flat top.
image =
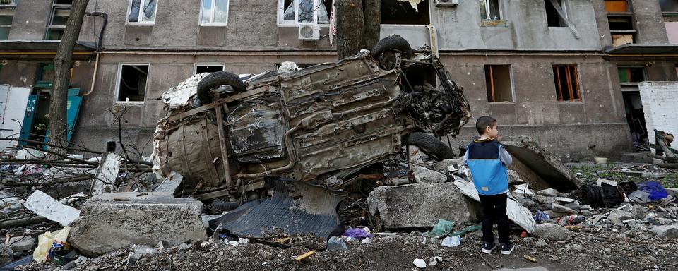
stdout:
<svg viewBox="0 0 678 271">
<path fill-rule="evenodd" d="M 172 193 L 105 193 L 83 204 L 82 217 L 71 225 L 69 242 L 88 256 L 102 255 L 132 244 L 169 246 L 206 238 L 203 205 Z"/>
</svg>

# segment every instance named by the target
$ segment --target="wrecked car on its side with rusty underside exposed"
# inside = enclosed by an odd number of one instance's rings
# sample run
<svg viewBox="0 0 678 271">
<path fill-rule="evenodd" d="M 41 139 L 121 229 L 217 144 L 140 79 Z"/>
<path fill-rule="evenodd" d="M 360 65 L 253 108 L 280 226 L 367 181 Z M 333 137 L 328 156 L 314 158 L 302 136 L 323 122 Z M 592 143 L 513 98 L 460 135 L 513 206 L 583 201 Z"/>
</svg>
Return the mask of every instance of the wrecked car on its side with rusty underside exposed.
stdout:
<svg viewBox="0 0 678 271">
<path fill-rule="evenodd" d="M 266 176 L 330 186 L 415 145 L 454 157 L 436 137 L 470 119 L 460 88 L 428 49 L 400 36 L 308 68 L 203 73 L 162 96 L 154 169 L 183 175 L 175 195 L 201 200 L 266 193 Z M 237 207 L 237 206 L 236 206 Z"/>
</svg>

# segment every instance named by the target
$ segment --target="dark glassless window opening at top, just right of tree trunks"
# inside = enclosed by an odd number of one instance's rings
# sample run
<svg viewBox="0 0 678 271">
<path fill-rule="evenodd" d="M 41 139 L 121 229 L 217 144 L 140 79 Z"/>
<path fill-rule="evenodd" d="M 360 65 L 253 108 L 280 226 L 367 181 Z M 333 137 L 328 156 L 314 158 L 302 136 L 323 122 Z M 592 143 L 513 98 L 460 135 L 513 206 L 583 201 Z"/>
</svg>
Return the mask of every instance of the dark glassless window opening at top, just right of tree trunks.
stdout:
<svg viewBox="0 0 678 271">
<path fill-rule="evenodd" d="M 383 25 L 428 25 L 429 1 L 383 0 L 381 1 L 381 24 Z"/>
</svg>

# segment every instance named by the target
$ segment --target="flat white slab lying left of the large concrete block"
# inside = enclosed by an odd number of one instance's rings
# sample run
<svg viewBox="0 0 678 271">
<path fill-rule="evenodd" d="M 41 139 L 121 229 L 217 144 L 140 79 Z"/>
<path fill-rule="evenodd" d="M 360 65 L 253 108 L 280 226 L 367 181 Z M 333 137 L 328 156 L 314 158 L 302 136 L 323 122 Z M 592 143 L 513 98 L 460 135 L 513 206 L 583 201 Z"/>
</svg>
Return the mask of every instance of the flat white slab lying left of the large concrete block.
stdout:
<svg viewBox="0 0 678 271">
<path fill-rule="evenodd" d="M 80 210 L 63 205 L 40 190 L 33 192 L 23 206 L 41 217 L 59 222 L 61 226 L 68 226 L 80 217 Z"/>
</svg>

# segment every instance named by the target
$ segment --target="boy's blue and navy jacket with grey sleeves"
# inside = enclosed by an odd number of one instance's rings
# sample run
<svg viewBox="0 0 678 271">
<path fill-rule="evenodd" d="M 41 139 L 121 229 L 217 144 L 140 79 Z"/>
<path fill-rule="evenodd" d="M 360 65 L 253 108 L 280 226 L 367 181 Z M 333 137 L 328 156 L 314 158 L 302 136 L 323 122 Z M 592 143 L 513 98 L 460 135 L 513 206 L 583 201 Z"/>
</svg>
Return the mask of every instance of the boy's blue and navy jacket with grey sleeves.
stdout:
<svg viewBox="0 0 678 271">
<path fill-rule="evenodd" d="M 487 138 L 475 140 L 466 147 L 464 161 L 480 195 L 499 195 L 509 192 L 509 174 L 506 167 L 513 162 L 504 145 Z"/>
</svg>

